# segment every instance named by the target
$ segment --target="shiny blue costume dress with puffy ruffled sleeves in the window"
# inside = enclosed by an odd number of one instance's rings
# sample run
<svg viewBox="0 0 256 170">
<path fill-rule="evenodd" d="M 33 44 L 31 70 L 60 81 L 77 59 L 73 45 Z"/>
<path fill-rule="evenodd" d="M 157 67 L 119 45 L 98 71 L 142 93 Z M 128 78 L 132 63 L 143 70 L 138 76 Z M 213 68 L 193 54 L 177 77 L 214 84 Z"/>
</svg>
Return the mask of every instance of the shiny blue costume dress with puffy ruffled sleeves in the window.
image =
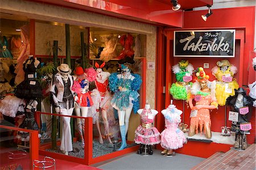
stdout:
<svg viewBox="0 0 256 170">
<path fill-rule="evenodd" d="M 109 88 L 114 92 L 114 96 L 110 101 L 111 105 L 117 110 L 126 110 L 133 104 L 133 111 L 137 113 L 139 109 L 139 90 L 142 83 L 139 74 L 130 74 L 125 78 L 122 74 L 112 73 L 109 77 Z M 125 90 L 119 90 L 121 86 Z"/>
</svg>

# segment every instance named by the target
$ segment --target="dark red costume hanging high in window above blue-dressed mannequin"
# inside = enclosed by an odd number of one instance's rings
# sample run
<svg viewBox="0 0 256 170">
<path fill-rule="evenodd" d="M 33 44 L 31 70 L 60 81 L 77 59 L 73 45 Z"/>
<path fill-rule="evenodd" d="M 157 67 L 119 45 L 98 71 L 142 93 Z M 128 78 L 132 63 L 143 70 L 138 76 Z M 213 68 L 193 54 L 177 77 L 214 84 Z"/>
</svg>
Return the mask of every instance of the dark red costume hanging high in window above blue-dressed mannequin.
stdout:
<svg viewBox="0 0 256 170">
<path fill-rule="evenodd" d="M 124 63 L 130 63 L 134 64 L 135 61 L 134 58 L 134 51 L 131 49 L 131 45 L 133 45 L 133 36 L 130 34 L 122 35 L 120 38 L 120 44 L 123 46 L 123 50 L 118 56 L 118 63 L 124 64 Z"/>
</svg>

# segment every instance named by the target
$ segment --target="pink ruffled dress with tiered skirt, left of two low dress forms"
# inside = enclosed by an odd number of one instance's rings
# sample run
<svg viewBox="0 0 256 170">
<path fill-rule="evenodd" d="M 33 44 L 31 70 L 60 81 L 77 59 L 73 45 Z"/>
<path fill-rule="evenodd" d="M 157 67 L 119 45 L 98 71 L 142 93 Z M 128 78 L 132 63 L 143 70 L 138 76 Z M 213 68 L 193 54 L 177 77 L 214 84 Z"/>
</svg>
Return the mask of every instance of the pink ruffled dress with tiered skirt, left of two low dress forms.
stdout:
<svg viewBox="0 0 256 170">
<path fill-rule="evenodd" d="M 135 130 L 134 142 L 137 144 L 153 145 L 160 143 L 160 133 L 156 127 L 152 125 L 153 119 L 148 119 L 148 115 L 152 114 L 151 109 L 143 109 L 141 113 L 141 125 Z"/>
</svg>

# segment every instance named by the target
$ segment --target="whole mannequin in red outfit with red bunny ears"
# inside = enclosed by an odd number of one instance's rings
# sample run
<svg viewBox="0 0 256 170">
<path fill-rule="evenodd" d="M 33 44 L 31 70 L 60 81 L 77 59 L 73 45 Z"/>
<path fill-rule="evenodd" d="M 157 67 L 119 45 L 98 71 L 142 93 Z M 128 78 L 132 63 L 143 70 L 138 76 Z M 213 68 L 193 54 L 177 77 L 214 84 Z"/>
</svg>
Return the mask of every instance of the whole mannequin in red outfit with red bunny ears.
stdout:
<svg viewBox="0 0 256 170">
<path fill-rule="evenodd" d="M 110 101 L 111 101 L 111 95 L 108 90 L 108 85 L 109 85 L 109 80 L 108 77 L 110 76 L 109 72 L 104 72 L 102 71 L 102 68 L 105 66 L 105 62 L 99 65 L 97 62 L 95 64 L 96 67 L 96 72 L 97 72 L 97 78 L 95 80 L 96 88 L 97 91 L 100 93 L 101 100 L 100 103 L 98 103 L 98 107 L 96 108 L 97 112 L 101 111 L 101 116 L 104 122 L 105 126 L 105 132 L 106 132 L 106 137 L 108 138 L 109 141 L 109 147 L 113 147 L 112 140 L 110 139 L 110 132 L 109 132 L 109 121 L 108 121 L 108 114 L 111 114 L 110 112 L 108 113 L 108 109 L 110 109 Z M 97 99 L 97 92 L 94 92 L 95 98 Z M 100 122 L 97 119 L 96 121 L 96 126 L 98 129 L 98 133 L 100 135 L 99 137 L 99 142 L 102 144 L 103 139 L 101 135 L 101 130 L 100 130 Z"/>
</svg>

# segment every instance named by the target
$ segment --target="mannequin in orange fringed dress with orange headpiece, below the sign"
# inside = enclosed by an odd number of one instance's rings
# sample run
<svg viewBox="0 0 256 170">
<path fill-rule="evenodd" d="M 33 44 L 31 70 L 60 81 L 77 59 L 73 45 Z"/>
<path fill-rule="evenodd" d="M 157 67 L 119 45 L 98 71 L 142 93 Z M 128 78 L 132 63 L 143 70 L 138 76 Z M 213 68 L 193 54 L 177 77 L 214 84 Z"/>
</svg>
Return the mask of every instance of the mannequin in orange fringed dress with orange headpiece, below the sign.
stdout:
<svg viewBox="0 0 256 170">
<path fill-rule="evenodd" d="M 201 134 L 204 128 L 204 134 L 207 139 L 212 138 L 210 131 L 210 110 L 217 109 L 218 104 L 215 98 L 216 82 L 209 82 L 209 76 L 205 74 L 203 68 L 198 68 L 196 73 L 197 81 L 191 88 L 193 96 L 189 99 L 191 108 L 191 121 L 188 136 L 193 136 L 200 130 Z M 209 88 L 210 87 L 210 88 Z M 195 99 L 196 105 L 193 106 L 192 100 Z M 200 129 L 198 129 L 200 128 Z"/>
</svg>

